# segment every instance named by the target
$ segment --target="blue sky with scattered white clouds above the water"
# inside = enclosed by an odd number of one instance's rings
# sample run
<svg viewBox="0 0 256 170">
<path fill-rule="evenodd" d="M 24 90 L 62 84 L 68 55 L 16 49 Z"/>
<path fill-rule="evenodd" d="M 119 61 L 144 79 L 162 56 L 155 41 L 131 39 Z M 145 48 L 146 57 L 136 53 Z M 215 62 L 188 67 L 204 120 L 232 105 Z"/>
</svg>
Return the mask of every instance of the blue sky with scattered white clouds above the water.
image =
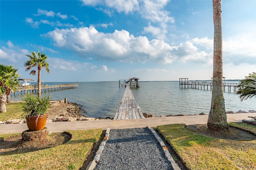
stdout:
<svg viewBox="0 0 256 170">
<path fill-rule="evenodd" d="M 212 77 L 211 0 L 0 0 L 0 63 L 21 78 L 26 55 L 48 56 L 45 82 Z M 222 0 L 223 71 L 256 71 L 256 1 Z"/>
</svg>

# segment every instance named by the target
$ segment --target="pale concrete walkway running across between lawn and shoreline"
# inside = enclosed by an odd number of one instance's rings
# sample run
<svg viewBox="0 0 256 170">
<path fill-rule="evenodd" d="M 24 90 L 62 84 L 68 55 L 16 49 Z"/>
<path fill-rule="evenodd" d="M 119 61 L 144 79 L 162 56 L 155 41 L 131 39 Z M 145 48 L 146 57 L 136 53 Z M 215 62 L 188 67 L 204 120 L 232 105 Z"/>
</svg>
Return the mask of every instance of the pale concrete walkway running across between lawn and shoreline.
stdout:
<svg viewBox="0 0 256 170">
<path fill-rule="evenodd" d="M 242 119 L 251 119 L 248 116 L 256 116 L 256 113 L 234 113 L 227 114 L 228 122 L 239 122 Z M 156 127 L 157 125 L 168 125 L 173 123 L 184 123 L 186 125 L 206 124 L 208 115 L 195 116 L 173 116 L 173 117 L 154 117 L 146 119 L 126 119 L 126 120 L 95 120 L 95 121 L 73 121 L 73 122 L 52 122 L 46 123 L 48 131 L 63 132 L 67 130 L 83 129 L 126 129 L 134 127 Z M 26 123 L 0 125 L 0 134 L 22 133 L 27 130 Z"/>
</svg>

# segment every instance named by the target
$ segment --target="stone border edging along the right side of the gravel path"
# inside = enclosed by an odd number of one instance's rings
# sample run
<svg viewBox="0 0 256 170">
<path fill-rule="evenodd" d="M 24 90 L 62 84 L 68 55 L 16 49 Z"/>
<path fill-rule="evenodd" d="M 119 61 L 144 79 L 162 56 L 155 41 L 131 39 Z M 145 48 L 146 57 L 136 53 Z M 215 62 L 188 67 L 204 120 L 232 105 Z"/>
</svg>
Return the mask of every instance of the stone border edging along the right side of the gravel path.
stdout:
<svg viewBox="0 0 256 170">
<path fill-rule="evenodd" d="M 159 144 L 161 145 L 162 149 L 164 150 L 164 154 L 166 156 L 166 158 L 168 159 L 168 161 L 171 162 L 172 164 L 172 168 L 174 170 L 180 170 L 179 166 L 176 164 L 176 162 L 174 161 L 174 159 L 172 158 L 171 154 L 169 153 L 166 145 L 164 144 L 164 141 L 162 141 L 162 139 L 158 136 L 158 134 L 156 133 L 156 131 L 154 131 L 154 129 L 152 129 L 151 127 L 147 126 L 147 128 L 151 131 L 151 133 L 154 135 L 154 137 L 156 138 L 156 140 L 159 142 Z"/>
</svg>

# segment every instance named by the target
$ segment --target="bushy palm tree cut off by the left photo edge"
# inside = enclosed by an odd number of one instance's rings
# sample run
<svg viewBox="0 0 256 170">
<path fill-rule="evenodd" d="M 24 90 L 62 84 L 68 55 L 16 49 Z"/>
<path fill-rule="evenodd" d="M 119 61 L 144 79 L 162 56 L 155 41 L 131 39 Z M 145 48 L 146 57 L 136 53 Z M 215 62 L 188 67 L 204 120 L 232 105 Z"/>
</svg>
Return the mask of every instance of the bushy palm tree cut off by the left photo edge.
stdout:
<svg viewBox="0 0 256 170">
<path fill-rule="evenodd" d="M 6 102 L 10 103 L 10 91 L 19 87 L 18 69 L 12 65 L 0 64 L 0 113 L 6 112 Z M 7 95 L 7 100 L 6 100 Z"/>
</svg>

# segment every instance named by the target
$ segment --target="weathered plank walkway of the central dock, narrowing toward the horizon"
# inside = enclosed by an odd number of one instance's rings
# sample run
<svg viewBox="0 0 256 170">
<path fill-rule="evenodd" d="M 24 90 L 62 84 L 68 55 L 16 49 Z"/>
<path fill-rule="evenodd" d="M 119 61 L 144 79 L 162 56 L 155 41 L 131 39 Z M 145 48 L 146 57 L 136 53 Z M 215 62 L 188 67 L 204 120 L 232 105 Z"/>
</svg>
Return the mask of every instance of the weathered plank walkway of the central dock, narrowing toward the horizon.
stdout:
<svg viewBox="0 0 256 170">
<path fill-rule="evenodd" d="M 118 119 L 144 119 L 140 106 L 134 99 L 130 86 L 126 86 L 124 96 L 120 103 L 114 120 Z"/>
</svg>

